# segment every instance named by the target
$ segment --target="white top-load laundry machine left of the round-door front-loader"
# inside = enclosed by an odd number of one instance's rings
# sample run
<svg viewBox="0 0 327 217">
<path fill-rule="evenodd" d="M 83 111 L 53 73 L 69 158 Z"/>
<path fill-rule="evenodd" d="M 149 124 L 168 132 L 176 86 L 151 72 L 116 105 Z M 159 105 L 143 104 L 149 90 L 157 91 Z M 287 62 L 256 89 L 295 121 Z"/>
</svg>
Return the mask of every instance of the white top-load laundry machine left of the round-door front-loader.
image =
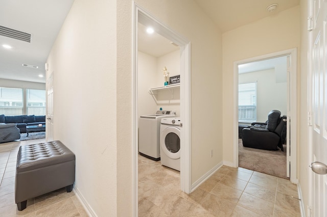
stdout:
<svg viewBox="0 0 327 217">
<path fill-rule="evenodd" d="M 152 160 L 160 160 L 161 118 L 175 117 L 174 111 L 159 110 L 154 115 L 141 115 L 138 121 L 138 152 Z"/>
</svg>

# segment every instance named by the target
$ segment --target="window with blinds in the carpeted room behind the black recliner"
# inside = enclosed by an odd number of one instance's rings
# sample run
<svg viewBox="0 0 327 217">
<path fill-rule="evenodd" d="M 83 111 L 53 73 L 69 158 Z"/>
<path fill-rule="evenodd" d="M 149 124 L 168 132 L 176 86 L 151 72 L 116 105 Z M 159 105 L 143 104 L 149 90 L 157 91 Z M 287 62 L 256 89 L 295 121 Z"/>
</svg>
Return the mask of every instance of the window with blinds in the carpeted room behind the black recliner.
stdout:
<svg viewBox="0 0 327 217">
<path fill-rule="evenodd" d="M 256 82 L 239 84 L 239 122 L 256 121 Z"/>
</svg>

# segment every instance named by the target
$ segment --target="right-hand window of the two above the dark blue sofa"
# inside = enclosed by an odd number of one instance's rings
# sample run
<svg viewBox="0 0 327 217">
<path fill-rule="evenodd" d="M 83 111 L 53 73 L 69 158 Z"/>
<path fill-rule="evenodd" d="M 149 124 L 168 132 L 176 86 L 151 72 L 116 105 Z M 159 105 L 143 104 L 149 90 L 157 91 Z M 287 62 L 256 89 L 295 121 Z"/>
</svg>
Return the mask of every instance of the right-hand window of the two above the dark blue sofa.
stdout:
<svg viewBox="0 0 327 217">
<path fill-rule="evenodd" d="M 45 115 L 45 90 L 26 92 L 27 115 Z"/>
</svg>

